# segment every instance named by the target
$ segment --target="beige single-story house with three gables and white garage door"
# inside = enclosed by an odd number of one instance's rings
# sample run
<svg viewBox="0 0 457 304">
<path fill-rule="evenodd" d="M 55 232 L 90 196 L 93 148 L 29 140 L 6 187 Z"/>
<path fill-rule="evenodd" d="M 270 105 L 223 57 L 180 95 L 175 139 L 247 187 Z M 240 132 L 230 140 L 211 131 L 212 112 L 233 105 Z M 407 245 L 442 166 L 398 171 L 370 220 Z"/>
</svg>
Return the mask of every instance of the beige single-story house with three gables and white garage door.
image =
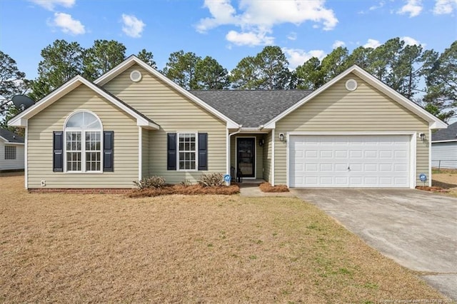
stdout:
<svg viewBox="0 0 457 304">
<path fill-rule="evenodd" d="M 136 56 L 93 83 L 72 78 L 9 125 L 26 128 L 31 191 L 231 167 L 290 187 L 414 188 L 431 179 L 430 130 L 446 128 L 358 66 L 316 91 L 186 91 Z"/>
</svg>

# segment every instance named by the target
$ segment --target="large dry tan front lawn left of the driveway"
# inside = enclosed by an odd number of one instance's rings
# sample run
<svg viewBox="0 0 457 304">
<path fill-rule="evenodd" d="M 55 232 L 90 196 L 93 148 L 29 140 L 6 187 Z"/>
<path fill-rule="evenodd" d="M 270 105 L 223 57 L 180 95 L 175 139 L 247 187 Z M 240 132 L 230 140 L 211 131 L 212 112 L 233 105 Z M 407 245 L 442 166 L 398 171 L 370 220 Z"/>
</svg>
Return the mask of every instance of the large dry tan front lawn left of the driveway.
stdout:
<svg viewBox="0 0 457 304">
<path fill-rule="evenodd" d="M 296 198 L 0 188 L 0 303 L 443 299 Z"/>
</svg>

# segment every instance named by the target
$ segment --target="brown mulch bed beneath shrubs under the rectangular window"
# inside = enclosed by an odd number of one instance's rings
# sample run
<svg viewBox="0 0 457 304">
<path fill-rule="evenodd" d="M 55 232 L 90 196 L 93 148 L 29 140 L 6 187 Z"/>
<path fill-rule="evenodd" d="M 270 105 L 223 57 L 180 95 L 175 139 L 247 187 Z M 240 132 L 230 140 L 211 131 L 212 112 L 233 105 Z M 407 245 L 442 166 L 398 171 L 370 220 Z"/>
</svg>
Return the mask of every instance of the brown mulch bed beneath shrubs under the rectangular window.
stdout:
<svg viewBox="0 0 457 304">
<path fill-rule="evenodd" d="M 200 185 L 167 185 L 161 188 L 135 189 L 129 193 L 130 198 L 144 198 L 151 196 L 167 196 L 171 194 L 184 195 L 201 195 L 201 194 L 221 194 L 232 195 L 240 193 L 240 188 L 237 185 L 221 186 L 221 187 L 202 187 Z"/>
</svg>

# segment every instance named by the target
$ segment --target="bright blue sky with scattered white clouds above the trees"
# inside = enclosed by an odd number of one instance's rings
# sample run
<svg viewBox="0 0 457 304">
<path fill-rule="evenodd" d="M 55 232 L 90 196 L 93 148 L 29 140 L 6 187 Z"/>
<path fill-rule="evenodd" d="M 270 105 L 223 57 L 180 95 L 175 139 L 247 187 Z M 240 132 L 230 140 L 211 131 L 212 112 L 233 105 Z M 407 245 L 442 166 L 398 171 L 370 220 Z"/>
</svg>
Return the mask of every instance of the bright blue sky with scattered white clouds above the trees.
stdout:
<svg viewBox="0 0 457 304">
<path fill-rule="evenodd" d="M 442 52 L 457 40 L 456 14 L 457 0 L 0 0 L 0 50 L 26 78 L 56 39 L 84 48 L 113 39 L 127 56 L 151 51 L 159 69 L 183 49 L 231 70 L 276 45 L 293 69 L 336 46 L 394 37 Z"/>
</svg>

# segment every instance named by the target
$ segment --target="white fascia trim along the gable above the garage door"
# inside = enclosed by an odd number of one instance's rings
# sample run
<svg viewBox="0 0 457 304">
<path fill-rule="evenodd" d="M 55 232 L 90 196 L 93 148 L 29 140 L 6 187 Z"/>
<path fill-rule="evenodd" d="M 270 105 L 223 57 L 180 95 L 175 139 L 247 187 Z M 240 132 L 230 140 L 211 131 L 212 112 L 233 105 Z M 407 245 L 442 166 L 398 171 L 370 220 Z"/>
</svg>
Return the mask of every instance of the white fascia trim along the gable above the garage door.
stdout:
<svg viewBox="0 0 457 304">
<path fill-rule="evenodd" d="M 351 66 L 351 68 L 347 69 L 346 71 L 343 71 L 343 73 L 339 74 L 338 76 L 333 78 L 331 81 L 328 81 L 326 84 L 324 84 L 323 86 L 318 88 L 316 91 L 313 91 L 312 93 L 308 94 L 303 99 L 301 99 L 301 101 L 298 101 L 298 103 L 291 106 L 286 111 L 283 111 L 283 113 L 280 113 L 278 116 L 271 119 L 271 121 L 268 121 L 268 123 L 265 124 L 265 128 L 274 128 L 273 123 L 276 123 L 276 121 L 280 120 L 284 116 L 287 116 L 289 113 L 295 111 L 300 106 L 303 106 L 303 104 L 310 101 L 312 98 L 318 96 L 318 94 L 325 91 L 328 87 L 333 86 L 334 83 L 336 83 L 337 81 L 340 81 L 342 78 L 346 77 L 348 74 L 351 74 L 351 73 L 356 74 L 358 77 L 367 81 L 372 86 L 378 88 L 383 93 L 386 93 L 386 95 L 393 98 L 394 101 L 397 101 L 405 108 L 408 108 L 408 110 L 412 111 L 413 113 L 416 113 L 419 117 L 428 121 L 430 128 L 433 128 L 433 129 L 447 128 L 447 126 L 448 126 L 447 123 L 445 123 L 444 121 L 441 121 L 439 118 L 436 118 L 431 113 L 428 113 L 428 111 L 421 108 L 421 106 L 418 106 L 416 103 L 413 103 L 413 101 L 410 101 L 408 98 L 401 95 L 401 93 L 398 93 L 393 88 L 387 86 L 386 83 L 383 83 L 375 76 L 373 76 L 373 75 L 369 74 L 367 71 L 361 69 L 359 66 Z"/>
</svg>

